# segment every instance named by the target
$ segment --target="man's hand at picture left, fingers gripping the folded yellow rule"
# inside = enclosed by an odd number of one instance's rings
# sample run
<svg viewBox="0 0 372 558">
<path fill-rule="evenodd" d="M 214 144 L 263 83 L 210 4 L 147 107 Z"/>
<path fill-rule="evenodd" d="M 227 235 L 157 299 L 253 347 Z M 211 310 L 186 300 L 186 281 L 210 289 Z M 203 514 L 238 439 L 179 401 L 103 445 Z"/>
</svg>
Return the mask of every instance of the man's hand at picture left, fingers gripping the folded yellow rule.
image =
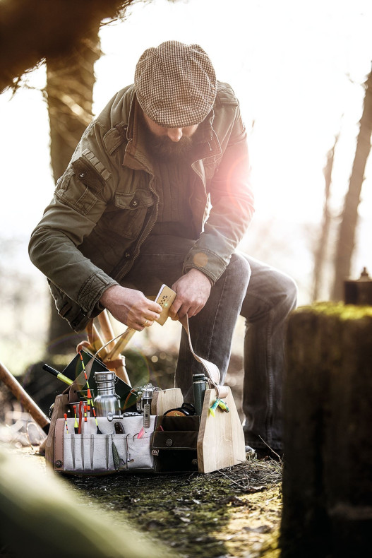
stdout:
<svg viewBox="0 0 372 558">
<path fill-rule="evenodd" d="M 143 292 L 120 285 L 113 285 L 105 290 L 100 303 L 116 320 L 137 331 L 152 326 L 162 311 L 160 304 L 146 298 Z"/>
</svg>

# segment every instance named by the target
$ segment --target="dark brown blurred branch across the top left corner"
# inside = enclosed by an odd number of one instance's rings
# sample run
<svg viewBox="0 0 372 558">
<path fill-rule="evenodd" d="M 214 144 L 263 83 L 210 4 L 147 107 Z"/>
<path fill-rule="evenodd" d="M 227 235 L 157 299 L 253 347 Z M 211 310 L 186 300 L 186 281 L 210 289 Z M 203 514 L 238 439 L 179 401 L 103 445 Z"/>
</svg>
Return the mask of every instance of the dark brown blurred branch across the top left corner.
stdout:
<svg viewBox="0 0 372 558">
<path fill-rule="evenodd" d="M 2 0 L 0 92 L 22 83 L 46 58 L 66 57 L 105 18 L 121 17 L 136 0 Z"/>
</svg>

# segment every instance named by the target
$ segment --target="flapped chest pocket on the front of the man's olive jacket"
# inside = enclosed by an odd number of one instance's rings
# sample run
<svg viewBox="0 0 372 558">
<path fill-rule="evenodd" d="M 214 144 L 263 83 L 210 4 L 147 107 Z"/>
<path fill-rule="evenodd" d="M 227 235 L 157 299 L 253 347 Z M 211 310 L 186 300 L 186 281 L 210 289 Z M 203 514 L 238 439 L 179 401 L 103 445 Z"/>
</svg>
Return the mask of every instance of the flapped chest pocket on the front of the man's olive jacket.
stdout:
<svg viewBox="0 0 372 558">
<path fill-rule="evenodd" d="M 109 230 L 121 237 L 135 239 L 143 227 L 149 208 L 153 205 L 154 199 L 148 190 L 116 192 L 114 204 L 105 215 Z"/>
</svg>

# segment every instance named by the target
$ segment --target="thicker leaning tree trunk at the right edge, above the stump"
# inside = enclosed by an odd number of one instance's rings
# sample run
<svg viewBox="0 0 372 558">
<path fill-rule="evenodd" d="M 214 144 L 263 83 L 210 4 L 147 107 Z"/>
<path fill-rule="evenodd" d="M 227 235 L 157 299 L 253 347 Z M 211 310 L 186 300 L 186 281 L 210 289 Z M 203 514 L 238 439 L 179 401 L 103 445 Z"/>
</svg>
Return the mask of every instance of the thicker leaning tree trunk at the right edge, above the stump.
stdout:
<svg viewBox="0 0 372 558">
<path fill-rule="evenodd" d="M 359 135 L 356 141 L 356 151 L 352 176 L 350 177 L 349 190 L 345 196 L 344 210 L 340 224 L 337 247 L 335 254 L 335 280 L 332 291 L 332 299 L 343 298 L 343 282 L 349 277 L 352 254 L 358 222 L 358 206 L 361 195 L 361 185 L 364 181 L 364 170 L 371 150 L 372 133 L 372 72 L 369 74 L 365 84 L 366 95 L 364 97 L 363 113 L 360 119 Z"/>
</svg>

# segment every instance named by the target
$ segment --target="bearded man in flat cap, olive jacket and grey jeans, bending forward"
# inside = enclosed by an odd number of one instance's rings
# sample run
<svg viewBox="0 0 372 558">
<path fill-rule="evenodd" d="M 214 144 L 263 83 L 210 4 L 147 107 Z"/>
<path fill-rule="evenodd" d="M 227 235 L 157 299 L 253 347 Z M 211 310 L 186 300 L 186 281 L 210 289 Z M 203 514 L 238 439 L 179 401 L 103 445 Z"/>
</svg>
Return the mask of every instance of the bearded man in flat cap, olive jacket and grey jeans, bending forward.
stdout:
<svg viewBox="0 0 372 558">
<path fill-rule="evenodd" d="M 30 257 L 76 331 L 104 308 L 142 331 L 161 311 L 145 295 L 172 286 L 172 319 L 188 315 L 196 354 L 222 379 L 241 312 L 246 441 L 280 452 L 283 323 L 296 288 L 236 252 L 253 215 L 249 170 L 232 88 L 197 44 L 164 42 L 143 53 L 134 84 L 83 134 Z M 186 400 L 197 372 L 183 331 L 176 385 Z"/>
</svg>

